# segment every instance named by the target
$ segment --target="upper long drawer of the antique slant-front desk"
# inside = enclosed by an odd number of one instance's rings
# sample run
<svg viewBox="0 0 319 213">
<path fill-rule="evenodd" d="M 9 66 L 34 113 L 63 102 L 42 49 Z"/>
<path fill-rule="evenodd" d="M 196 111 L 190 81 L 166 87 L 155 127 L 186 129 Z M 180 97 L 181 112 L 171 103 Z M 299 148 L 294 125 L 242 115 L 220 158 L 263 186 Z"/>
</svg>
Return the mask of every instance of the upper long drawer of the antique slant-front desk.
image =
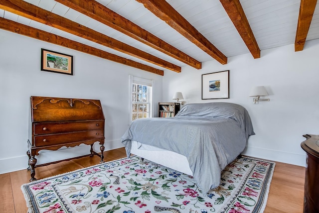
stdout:
<svg viewBox="0 0 319 213">
<path fill-rule="evenodd" d="M 104 120 L 34 123 L 34 134 L 50 134 L 104 128 Z"/>
</svg>

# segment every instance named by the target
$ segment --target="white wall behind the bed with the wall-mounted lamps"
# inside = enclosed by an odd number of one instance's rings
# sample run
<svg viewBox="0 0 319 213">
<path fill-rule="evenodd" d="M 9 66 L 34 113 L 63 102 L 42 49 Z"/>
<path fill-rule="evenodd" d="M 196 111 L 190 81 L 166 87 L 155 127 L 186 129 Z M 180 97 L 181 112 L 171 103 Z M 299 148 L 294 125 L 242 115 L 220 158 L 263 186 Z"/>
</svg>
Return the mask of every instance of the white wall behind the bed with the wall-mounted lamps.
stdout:
<svg viewBox="0 0 319 213">
<path fill-rule="evenodd" d="M 163 101 L 172 102 L 182 92 L 186 104 L 231 102 L 248 110 L 256 135 L 249 138 L 243 154 L 305 166 L 300 143 L 304 134 L 319 134 L 319 40 L 306 42 L 303 51 L 294 45 L 228 58 L 227 65 L 216 61 L 202 64 L 201 70 L 183 68 L 180 74 L 164 73 Z M 202 74 L 229 70 L 230 99 L 201 100 Z M 252 103 L 253 86 L 265 86 L 270 102 Z"/>
</svg>

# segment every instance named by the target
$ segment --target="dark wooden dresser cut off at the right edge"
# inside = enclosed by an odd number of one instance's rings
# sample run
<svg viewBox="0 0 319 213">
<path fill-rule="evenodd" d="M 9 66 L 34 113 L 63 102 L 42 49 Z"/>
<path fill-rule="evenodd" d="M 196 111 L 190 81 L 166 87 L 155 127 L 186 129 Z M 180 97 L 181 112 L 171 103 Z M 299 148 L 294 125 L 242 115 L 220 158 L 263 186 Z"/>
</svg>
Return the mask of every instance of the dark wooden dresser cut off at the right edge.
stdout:
<svg viewBox="0 0 319 213">
<path fill-rule="evenodd" d="M 307 154 L 304 213 L 319 213 L 319 135 L 303 136 L 307 138 L 301 143 Z"/>
</svg>

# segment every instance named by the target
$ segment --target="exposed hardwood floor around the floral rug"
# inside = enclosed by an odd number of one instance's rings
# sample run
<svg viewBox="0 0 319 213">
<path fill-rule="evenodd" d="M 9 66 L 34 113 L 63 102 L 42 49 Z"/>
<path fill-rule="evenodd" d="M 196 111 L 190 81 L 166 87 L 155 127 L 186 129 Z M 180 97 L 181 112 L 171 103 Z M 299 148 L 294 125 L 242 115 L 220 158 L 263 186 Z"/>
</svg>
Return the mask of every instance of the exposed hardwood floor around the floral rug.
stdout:
<svg viewBox="0 0 319 213">
<path fill-rule="evenodd" d="M 126 157 L 125 149 L 106 151 L 105 161 Z M 77 169 L 96 165 L 98 156 L 84 157 L 36 168 L 37 179 L 42 179 Z M 28 183 L 30 172 L 20 170 L 0 175 L 1 213 L 26 213 L 21 185 Z M 264 213 L 302 213 L 304 201 L 305 168 L 276 162 Z"/>
</svg>

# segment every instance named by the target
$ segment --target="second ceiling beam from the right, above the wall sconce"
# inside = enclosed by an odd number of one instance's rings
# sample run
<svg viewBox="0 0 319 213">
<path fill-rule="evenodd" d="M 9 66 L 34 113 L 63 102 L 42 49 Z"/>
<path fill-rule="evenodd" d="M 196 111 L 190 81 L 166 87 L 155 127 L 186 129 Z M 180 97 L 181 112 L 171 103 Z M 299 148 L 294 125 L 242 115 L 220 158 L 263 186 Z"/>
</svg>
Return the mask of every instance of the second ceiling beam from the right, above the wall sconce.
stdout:
<svg viewBox="0 0 319 213">
<path fill-rule="evenodd" d="M 260 58 L 260 49 L 239 0 L 220 0 L 230 20 L 254 58 Z"/>
</svg>

